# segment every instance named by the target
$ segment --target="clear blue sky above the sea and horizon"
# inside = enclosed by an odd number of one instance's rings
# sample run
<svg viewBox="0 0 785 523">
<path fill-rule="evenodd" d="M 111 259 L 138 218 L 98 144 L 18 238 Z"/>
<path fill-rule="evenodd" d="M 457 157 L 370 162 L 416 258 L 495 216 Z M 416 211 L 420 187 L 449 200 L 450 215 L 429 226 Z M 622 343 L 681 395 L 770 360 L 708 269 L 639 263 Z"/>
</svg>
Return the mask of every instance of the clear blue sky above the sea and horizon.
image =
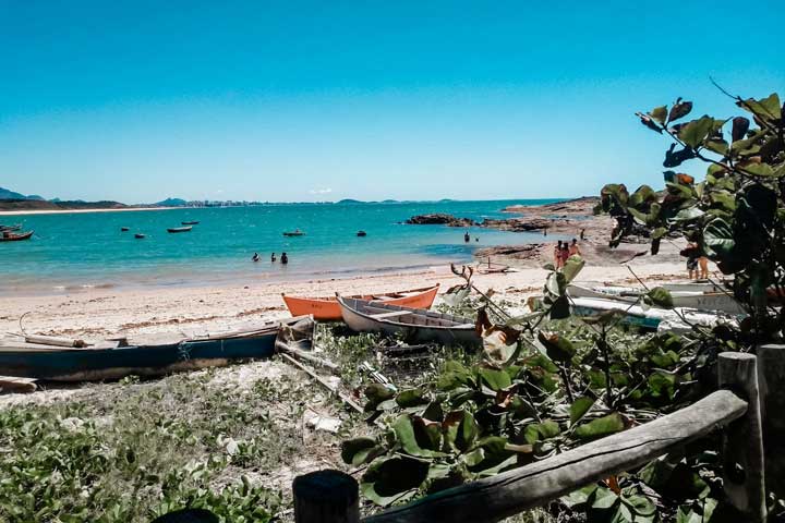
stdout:
<svg viewBox="0 0 785 523">
<path fill-rule="evenodd" d="M 782 27 L 782 1 L 0 0 L 0 186 L 128 203 L 656 186 L 667 143 L 633 112 L 684 96 L 734 114 L 710 75 L 785 93 Z"/>
</svg>

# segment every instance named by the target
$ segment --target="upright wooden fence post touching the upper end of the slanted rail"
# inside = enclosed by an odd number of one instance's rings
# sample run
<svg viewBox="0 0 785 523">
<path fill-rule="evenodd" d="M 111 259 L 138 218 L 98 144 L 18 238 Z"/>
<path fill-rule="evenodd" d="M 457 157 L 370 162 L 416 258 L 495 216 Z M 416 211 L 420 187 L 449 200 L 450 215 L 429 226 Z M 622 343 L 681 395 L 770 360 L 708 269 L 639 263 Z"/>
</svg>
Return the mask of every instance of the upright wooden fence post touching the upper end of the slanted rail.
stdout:
<svg viewBox="0 0 785 523">
<path fill-rule="evenodd" d="M 730 423 L 723 435 L 724 485 L 745 521 L 766 518 L 763 431 L 761 428 L 757 358 L 742 352 L 723 352 L 718 358 L 720 387 L 747 400 L 747 413 Z"/>
</svg>

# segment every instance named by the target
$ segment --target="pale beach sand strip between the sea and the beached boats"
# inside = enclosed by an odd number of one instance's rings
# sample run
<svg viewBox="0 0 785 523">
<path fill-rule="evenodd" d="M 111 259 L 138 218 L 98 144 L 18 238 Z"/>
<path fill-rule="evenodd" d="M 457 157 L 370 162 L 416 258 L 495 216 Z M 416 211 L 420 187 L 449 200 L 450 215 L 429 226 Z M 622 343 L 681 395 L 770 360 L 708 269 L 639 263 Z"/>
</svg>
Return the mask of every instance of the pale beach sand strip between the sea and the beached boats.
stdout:
<svg viewBox="0 0 785 523">
<path fill-rule="evenodd" d="M 684 278 L 683 264 L 657 257 L 637 258 L 629 265 L 645 280 Z M 527 265 L 531 265 L 528 260 Z M 475 275 L 482 290 L 494 289 L 499 299 L 522 303 L 542 290 L 546 271 L 521 267 L 506 275 Z M 618 264 L 588 265 L 578 281 L 633 283 Z M 281 292 L 295 295 L 376 293 L 439 283 L 440 292 L 462 283 L 448 266 L 427 270 L 355 276 L 345 279 L 231 284 L 220 287 L 88 289 L 56 295 L 14 295 L 0 299 L 0 332 L 101 339 L 150 332 L 228 330 L 251 320 L 288 316 Z M 437 299 L 437 303 L 440 299 Z M 1 373 L 0 373 L 1 374 Z"/>
</svg>

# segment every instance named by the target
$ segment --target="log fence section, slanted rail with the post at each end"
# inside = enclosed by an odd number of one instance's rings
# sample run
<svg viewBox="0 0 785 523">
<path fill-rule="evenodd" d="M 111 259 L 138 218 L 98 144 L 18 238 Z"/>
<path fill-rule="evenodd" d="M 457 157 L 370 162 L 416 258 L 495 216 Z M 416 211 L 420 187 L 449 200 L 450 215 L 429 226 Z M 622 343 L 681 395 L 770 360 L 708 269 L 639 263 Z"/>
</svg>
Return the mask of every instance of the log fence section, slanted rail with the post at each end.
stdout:
<svg viewBox="0 0 785 523">
<path fill-rule="evenodd" d="M 354 501 L 357 481 L 338 471 L 306 474 L 294 483 L 295 519 L 298 523 L 499 521 L 727 427 L 725 439 L 730 451 L 725 452 L 726 466 L 745 472 L 735 475 L 737 483 L 726 482 L 728 497 L 745 515 L 744 521 L 761 522 L 765 518 L 765 489 L 756 368 L 753 355 L 723 353 L 718 358 L 718 384 L 729 390 L 717 390 L 673 414 L 554 458 L 362 520 Z M 330 496 L 315 494 L 319 489 L 329 490 Z"/>
</svg>

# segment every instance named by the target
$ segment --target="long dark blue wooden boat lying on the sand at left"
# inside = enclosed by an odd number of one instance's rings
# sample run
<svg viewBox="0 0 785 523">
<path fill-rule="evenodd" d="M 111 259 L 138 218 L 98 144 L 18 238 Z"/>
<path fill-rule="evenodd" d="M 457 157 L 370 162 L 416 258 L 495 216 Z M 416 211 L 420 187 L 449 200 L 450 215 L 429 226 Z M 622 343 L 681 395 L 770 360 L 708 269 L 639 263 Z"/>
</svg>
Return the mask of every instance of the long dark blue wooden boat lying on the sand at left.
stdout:
<svg viewBox="0 0 785 523">
<path fill-rule="evenodd" d="M 238 360 L 268 357 L 287 323 L 264 323 L 231 331 L 180 337 L 140 336 L 136 340 L 105 341 L 89 346 L 60 346 L 0 340 L 3 375 L 56 381 L 94 381 L 124 376 L 162 376 L 222 366 Z"/>
</svg>

